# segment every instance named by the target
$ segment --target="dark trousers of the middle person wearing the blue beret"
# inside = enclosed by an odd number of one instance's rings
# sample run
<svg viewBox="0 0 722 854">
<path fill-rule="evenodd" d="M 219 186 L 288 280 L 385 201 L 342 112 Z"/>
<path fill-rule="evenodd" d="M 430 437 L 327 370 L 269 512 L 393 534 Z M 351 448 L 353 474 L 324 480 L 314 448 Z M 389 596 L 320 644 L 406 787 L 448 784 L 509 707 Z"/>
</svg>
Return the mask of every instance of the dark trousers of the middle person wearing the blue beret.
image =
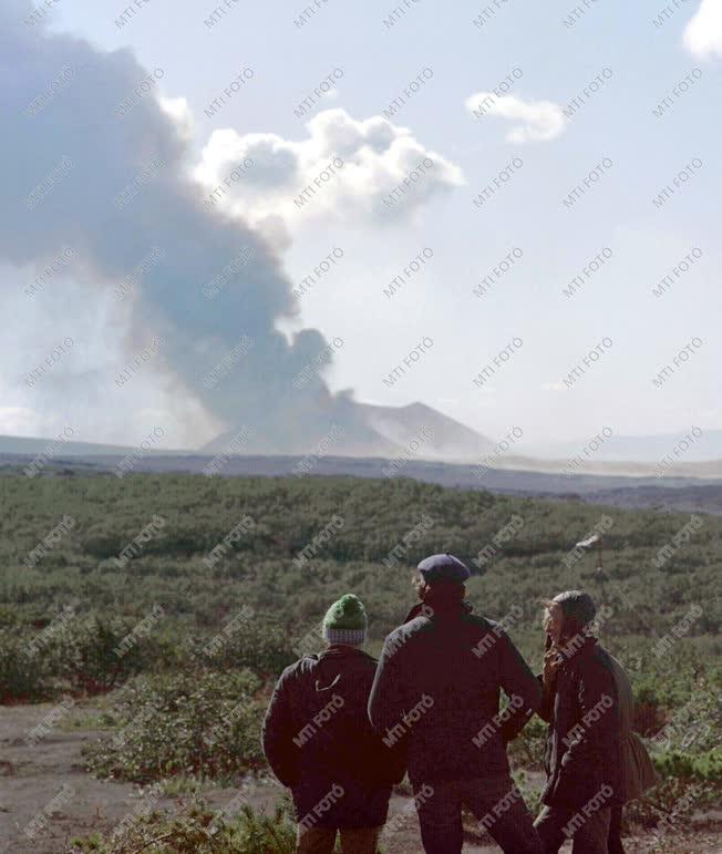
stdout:
<svg viewBox="0 0 722 854">
<path fill-rule="evenodd" d="M 426 854 L 461 854 L 462 805 L 472 811 L 479 830 L 487 831 L 506 854 L 543 854 L 532 815 L 508 774 L 414 782 L 413 786 Z"/>
</svg>

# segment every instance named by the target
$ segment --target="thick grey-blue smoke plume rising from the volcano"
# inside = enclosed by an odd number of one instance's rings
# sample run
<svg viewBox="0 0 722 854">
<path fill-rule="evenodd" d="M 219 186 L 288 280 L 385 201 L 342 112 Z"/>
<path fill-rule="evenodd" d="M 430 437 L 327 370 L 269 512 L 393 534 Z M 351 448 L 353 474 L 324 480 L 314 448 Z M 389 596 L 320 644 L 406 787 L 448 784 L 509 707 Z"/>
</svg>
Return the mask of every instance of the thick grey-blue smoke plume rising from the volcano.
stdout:
<svg viewBox="0 0 722 854">
<path fill-rule="evenodd" d="M 124 300 L 128 359 L 161 339 L 153 370 L 229 426 L 248 425 L 254 450 L 306 450 L 331 422 L 371 438 L 352 397 L 330 393 L 323 368 L 295 388 L 327 341 L 316 329 L 291 342 L 276 330 L 296 310 L 290 282 L 257 231 L 204 208 L 187 177 L 187 136 L 168 112 L 147 96 L 118 115 L 148 70 L 127 50 L 101 51 L 42 22 L 28 28 L 31 10 L 24 0 L 0 8 L 0 260 L 44 265 L 72 246 L 65 275 L 112 289 L 159 247 L 162 259 Z M 204 285 L 224 271 L 209 298 Z M 216 384 L 204 382 L 244 337 L 252 347 Z"/>
</svg>

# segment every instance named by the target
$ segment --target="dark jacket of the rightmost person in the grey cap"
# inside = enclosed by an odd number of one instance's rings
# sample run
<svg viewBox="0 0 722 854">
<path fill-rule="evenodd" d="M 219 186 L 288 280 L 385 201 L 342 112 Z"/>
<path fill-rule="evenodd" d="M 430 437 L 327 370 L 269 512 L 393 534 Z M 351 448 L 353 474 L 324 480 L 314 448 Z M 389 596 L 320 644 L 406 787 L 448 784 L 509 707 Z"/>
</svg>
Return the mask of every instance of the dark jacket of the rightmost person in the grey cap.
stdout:
<svg viewBox="0 0 722 854">
<path fill-rule="evenodd" d="M 596 638 L 567 647 L 550 707 L 539 711 L 549 721 L 543 803 L 579 810 L 600 792 L 605 804 L 627 800 L 622 717 L 631 721 L 631 689 L 619 670 Z"/>
</svg>

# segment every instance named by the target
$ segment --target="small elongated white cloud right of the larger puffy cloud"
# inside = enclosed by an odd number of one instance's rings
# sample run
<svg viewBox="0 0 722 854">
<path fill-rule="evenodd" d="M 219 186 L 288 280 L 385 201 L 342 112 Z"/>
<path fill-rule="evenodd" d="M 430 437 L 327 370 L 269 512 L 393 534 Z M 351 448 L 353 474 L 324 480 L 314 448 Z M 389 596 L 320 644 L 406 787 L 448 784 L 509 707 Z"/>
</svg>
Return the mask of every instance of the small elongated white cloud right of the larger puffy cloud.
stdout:
<svg viewBox="0 0 722 854">
<path fill-rule="evenodd" d="M 477 117 L 495 115 L 516 122 L 506 135 L 512 143 L 555 140 L 567 126 L 564 111 L 554 101 L 524 101 L 515 95 L 497 97 L 493 92 L 477 92 L 464 103 Z"/>
</svg>

